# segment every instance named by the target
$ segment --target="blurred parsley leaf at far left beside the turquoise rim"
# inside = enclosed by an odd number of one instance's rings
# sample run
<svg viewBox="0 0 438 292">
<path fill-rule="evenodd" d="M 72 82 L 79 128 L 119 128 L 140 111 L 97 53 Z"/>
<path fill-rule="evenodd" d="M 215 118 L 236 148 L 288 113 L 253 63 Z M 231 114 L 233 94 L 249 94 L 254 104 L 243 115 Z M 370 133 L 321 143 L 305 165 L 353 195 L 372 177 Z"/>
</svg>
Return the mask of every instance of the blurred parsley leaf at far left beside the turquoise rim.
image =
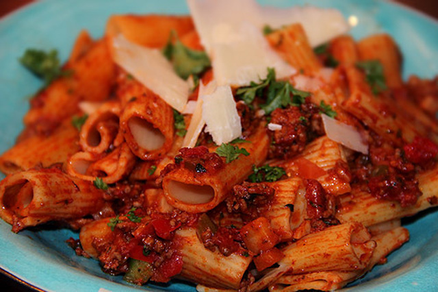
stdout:
<svg viewBox="0 0 438 292">
<path fill-rule="evenodd" d="M 57 51 L 42 51 L 39 49 L 27 49 L 23 56 L 18 59 L 31 73 L 44 80 L 47 86 L 57 77 L 70 75 L 70 71 L 62 71 Z"/>
</svg>

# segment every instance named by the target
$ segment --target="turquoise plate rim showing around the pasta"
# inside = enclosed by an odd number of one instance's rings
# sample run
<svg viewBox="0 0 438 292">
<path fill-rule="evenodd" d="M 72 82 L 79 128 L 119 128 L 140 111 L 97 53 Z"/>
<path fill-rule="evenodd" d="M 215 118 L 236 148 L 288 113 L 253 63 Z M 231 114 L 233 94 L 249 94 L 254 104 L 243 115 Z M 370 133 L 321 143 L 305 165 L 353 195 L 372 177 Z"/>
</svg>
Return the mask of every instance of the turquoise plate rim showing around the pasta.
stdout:
<svg viewBox="0 0 438 292">
<path fill-rule="evenodd" d="M 279 7 L 292 1 L 262 1 Z M 388 32 L 405 56 L 404 77 L 417 74 L 433 77 L 438 73 L 438 23 L 422 14 L 387 1 L 294 1 L 338 8 L 346 16 L 356 16 L 352 29 L 355 38 Z M 42 84 L 18 64 L 26 48 L 56 48 L 66 60 L 75 36 L 88 29 L 102 36 L 111 14 L 123 13 L 186 14 L 185 1 L 144 0 L 64 0 L 38 1 L 0 21 L 0 152 L 14 144 L 23 128 L 29 96 Z M 438 212 L 427 211 L 404 221 L 411 240 L 391 254 L 386 265 L 375 267 L 364 278 L 346 289 L 355 291 L 436 291 L 438 287 Z M 0 220 L 0 267 L 34 287 L 47 291 L 194 291 L 194 285 L 172 282 L 169 285 L 136 287 L 120 276 L 101 271 L 95 260 L 75 255 L 65 243 L 77 232 L 70 230 L 24 230 L 18 234 Z"/>
</svg>

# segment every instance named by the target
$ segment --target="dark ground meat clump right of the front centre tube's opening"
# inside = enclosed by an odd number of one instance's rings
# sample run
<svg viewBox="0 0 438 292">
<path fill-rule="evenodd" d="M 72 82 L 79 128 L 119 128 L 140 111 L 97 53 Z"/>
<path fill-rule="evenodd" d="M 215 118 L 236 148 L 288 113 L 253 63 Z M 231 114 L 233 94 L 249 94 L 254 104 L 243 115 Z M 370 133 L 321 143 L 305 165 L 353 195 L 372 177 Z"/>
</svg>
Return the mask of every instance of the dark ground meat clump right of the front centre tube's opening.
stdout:
<svg viewBox="0 0 438 292">
<path fill-rule="evenodd" d="M 227 197 L 228 212 L 240 213 L 246 221 L 253 221 L 270 208 L 275 190 L 263 183 L 243 182 L 233 187 L 233 195 Z"/>
</svg>

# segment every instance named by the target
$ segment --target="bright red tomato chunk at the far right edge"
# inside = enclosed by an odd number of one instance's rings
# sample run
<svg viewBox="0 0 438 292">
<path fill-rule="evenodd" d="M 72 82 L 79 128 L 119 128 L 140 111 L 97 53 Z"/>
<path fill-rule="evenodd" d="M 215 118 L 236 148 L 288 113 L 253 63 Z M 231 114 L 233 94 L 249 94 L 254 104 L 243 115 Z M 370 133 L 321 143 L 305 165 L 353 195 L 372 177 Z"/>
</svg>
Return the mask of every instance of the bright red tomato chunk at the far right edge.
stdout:
<svg viewBox="0 0 438 292">
<path fill-rule="evenodd" d="M 428 138 L 420 136 L 416 136 L 412 143 L 404 145 L 403 150 L 407 160 L 422 166 L 438 154 L 438 146 Z"/>
</svg>

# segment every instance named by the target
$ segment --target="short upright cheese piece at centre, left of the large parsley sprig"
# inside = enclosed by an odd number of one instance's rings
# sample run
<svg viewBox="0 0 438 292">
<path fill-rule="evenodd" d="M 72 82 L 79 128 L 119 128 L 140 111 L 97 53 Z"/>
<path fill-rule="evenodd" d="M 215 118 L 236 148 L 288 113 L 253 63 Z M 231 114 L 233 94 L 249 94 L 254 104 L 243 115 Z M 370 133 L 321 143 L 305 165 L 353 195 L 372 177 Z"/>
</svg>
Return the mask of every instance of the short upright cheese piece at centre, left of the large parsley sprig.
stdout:
<svg viewBox="0 0 438 292">
<path fill-rule="evenodd" d="M 217 86 L 212 93 L 203 94 L 203 120 L 205 131 L 211 134 L 214 143 L 229 143 L 242 135 L 240 116 L 228 85 Z"/>
</svg>

